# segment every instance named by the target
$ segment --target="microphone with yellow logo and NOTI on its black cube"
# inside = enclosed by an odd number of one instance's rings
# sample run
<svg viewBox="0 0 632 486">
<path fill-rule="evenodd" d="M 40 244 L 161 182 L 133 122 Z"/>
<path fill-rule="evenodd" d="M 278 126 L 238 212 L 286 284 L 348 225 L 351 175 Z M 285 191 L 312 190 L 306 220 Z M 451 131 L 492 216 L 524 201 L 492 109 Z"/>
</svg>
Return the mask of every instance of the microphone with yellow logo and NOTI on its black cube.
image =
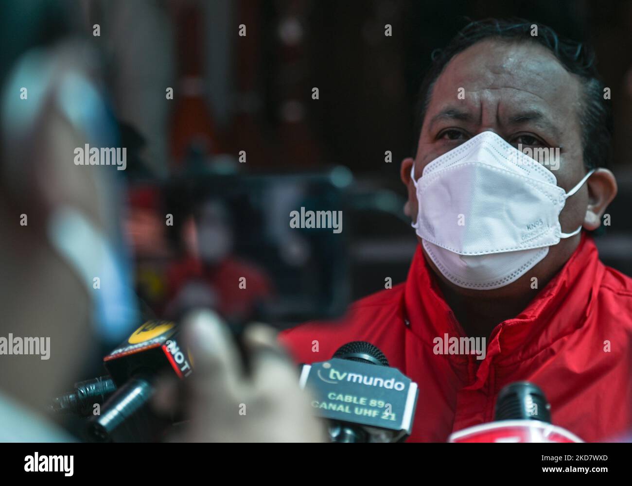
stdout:
<svg viewBox="0 0 632 486">
<path fill-rule="evenodd" d="M 179 379 L 192 372 L 191 357 L 179 346 L 174 322 L 148 320 L 104 358 L 116 391 L 88 422 L 87 434 L 95 442 L 152 440 L 167 422 L 147 407 L 154 380 L 165 370 Z"/>
</svg>

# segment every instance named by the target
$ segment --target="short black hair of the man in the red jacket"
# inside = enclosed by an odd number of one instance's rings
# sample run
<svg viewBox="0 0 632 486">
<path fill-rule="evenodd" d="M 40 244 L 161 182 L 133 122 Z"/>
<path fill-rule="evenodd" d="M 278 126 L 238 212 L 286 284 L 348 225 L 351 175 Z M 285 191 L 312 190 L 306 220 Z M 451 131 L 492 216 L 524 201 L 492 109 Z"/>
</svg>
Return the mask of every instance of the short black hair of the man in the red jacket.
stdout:
<svg viewBox="0 0 632 486">
<path fill-rule="evenodd" d="M 537 25 L 537 35 L 532 35 L 534 25 Z M 432 53 L 432 65 L 423 78 L 418 97 L 415 126 L 417 139 L 413 153 L 416 152 L 435 81 L 456 54 L 485 39 L 540 44 L 549 49 L 569 73 L 580 78 L 583 102 L 578 115 L 584 165 L 588 169 L 607 167 L 611 156 L 612 111 L 609 100 L 604 99 L 604 83 L 597 73 L 592 48 L 581 42 L 564 39 L 546 25 L 521 18 L 492 18 L 470 22 L 453 37 L 445 49 L 437 49 Z"/>
</svg>

